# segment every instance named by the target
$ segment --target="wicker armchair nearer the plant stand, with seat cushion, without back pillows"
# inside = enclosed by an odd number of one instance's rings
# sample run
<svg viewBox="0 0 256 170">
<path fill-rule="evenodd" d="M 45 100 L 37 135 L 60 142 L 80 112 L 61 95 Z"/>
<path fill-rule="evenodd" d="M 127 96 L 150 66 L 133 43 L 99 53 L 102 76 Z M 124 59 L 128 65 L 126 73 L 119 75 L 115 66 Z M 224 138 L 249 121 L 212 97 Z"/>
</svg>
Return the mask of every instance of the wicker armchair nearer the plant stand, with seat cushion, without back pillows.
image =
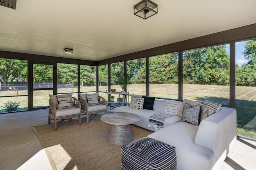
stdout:
<svg viewBox="0 0 256 170">
<path fill-rule="evenodd" d="M 100 104 L 98 105 L 88 105 L 87 101 L 84 100 L 80 95 L 80 103 L 81 103 L 81 115 L 87 116 L 87 123 L 89 123 L 89 116 L 92 114 L 107 113 L 107 102 L 106 99 L 104 99 L 101 96 L 98 96 L 98 101 Z"/>
</svg>

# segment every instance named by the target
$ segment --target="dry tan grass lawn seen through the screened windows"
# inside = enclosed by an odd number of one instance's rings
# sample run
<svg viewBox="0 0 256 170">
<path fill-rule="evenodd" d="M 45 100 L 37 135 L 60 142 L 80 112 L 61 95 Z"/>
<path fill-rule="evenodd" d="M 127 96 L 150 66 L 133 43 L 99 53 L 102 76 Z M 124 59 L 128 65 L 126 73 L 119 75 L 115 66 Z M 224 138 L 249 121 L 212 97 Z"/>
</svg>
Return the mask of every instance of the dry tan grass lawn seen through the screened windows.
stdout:
<svg viewBox="0 0 256 170">
<path fill-rule="evenodd" d="M 119 85 L 111 86 L 120 92 L 122 89 Z M 99 86 L 99 95 L 107 98 L 106 90 L 108 86 Z M 77 92 L 78 88 L 58 89 L 58 93 Z M 80 88 L 80 92 L 96 91 L 96 86 L 85 86 Z M 146 94 L 145 84 L 128 84 L 127 91 L 129 94 Z M 236 87 L 236 104 L 240 106 L 256 107 L 256 87 Z M 27 90 L 18 91 L 18 95 L 26 95 Z M 48 94 L 52 94 L 51 90 L 34 91 L 34 107 L 48 106 Z M 229 86 L 216 85 L 198 85 L 198 84 L 183 84 L 183 99 L 216 102 L 224 105 L 229 105 Z M 16 90 L 2 91 L 1 96 L 17 95 Z M 78 94 L 73 94 L 78 97 Z M 118 98 L 119 95 L 113 95 Z M 178 99 L 178 84 L 150 84 L 150 96 L 160 98 Z M 122 97 L 122 96 L 121 96 Z M 0 113 L 4 112 L 3 104 L 7 101 L 20 102 L 21 110 L 27 109 L 28 97 L 17 96 L 0 98 Z M 129 97 L 130 102 L 130 97 Z M 2 110 L 1 110 L 2 109 Z M 256 138 L 256 110 L 237 108 L 237 133 L 252 138 Z"/>
</svg>

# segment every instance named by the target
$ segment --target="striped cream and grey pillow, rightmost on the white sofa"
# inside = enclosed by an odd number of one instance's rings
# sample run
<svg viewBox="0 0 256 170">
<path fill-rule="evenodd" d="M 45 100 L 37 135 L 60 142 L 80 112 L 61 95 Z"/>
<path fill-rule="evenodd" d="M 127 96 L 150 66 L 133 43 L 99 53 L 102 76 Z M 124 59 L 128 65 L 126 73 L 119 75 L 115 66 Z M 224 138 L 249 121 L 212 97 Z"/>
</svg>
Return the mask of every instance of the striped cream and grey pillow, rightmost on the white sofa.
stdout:
<svg viewBox="0 0 256 170">
<path fill-rule="evenodd" d="M 220 107 L 221 107 L 221 104 L 208 102 L 208 101 L 202 102 L 201 120 L 219 111 Z"/>
</svg>

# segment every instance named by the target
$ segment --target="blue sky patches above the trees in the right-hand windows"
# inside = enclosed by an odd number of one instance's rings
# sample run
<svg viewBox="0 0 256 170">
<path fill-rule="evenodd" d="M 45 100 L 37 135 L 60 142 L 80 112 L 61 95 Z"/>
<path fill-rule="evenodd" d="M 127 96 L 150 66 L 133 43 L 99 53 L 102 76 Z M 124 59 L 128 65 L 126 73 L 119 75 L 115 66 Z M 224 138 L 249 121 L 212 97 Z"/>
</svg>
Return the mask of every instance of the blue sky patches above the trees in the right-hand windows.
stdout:
<svg viewBox="0 0 256 170">
<path fill-rule="evenodd" d="M 244 52 L 244 46 L 246 45 L 246 41 L 241 41 L 236 43 L 236 64 L 241 66 L 244 63 L 247 63 L 248 60 L 244 59 L 244 55 L 242 54 Z M 229 44 L 226 45 L 226 50 L 229 54 Z"/>
</svg>

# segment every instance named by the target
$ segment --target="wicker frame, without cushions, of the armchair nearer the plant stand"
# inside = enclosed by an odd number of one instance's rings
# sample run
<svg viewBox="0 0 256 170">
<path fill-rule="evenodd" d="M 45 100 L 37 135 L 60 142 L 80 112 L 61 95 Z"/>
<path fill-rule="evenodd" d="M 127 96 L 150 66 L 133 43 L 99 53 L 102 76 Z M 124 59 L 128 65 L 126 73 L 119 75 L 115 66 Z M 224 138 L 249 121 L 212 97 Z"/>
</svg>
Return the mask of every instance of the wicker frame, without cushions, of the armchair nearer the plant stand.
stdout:
<svg viewBox="0 0 256 170">
<path fill-rule="evenodd" d="M 90 106 L 88 106 L 87 101 L 84 100 L 83 98 L 81 98 L 81 96 L 80 96 L 81 115 L 86 115 L 87 123 L 89 123 L 90 115 L 101 113 L 101 112 L 107 113 L 107 102 L 106 102 L 106 99 L 101 97 L 101 96 L 98 96 L 98 101 L 99 101 L 100 104 L 106 105 L 106 109 L 101 109 L 101 110 L 96 110 L 96 111 L 88 111 L 88 107 L 90 107 Z"/>
</svg>

